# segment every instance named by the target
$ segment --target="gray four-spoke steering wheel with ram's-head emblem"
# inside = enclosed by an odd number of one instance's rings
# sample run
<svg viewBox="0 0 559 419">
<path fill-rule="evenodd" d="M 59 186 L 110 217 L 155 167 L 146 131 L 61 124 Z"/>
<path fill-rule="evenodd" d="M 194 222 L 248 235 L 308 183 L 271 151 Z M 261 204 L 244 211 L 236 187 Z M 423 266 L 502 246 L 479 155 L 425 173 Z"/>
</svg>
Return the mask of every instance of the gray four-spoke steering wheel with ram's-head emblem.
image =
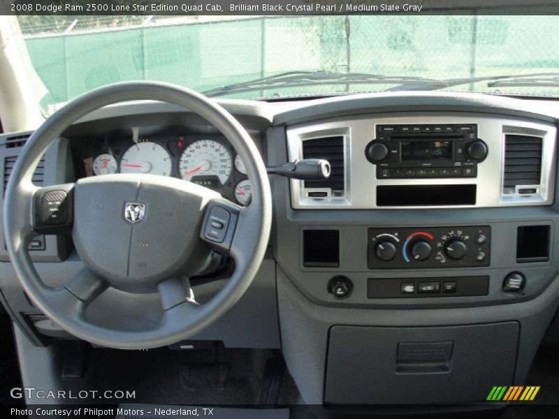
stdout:
<svg viewBox="0 0 559 419">
<path fill-rule="evenodd" d="M 252 202 L 240 207 L 203 186 L 145 174 L 87 177 L 43 188 L 31 183 L 41 156 L 68 126 L 103 106 L 135 100 L 180 105 L 221 131 L 245 163 Z M 6 247 L 31 300 L 72 335 L 123 349 L 172 344 L 222 316 L 254 279 L 268 245 L 272 219 L 268 175 L 247 131 L 205 96 L 159 82 L 101 87 L 49 117 L 22 149 L 10 175 L 5 203 Z M 71 234 L 86 267 L 64 286 L 45 284 L 27 250 L 37 233 Z M 189 277 L 205 266 L 212 251 L 231 256 L 235 269 L 211 300 L 198 304 Z M 94 324 L 85 316 L 85 309 L 108 287 L 124 291 L 125 297 L 158 292 L 161 321 L 146 330 L 132 325 L 115 330 Z M 145 312 L 138 313 L 142 315 Z"/>
</svg>

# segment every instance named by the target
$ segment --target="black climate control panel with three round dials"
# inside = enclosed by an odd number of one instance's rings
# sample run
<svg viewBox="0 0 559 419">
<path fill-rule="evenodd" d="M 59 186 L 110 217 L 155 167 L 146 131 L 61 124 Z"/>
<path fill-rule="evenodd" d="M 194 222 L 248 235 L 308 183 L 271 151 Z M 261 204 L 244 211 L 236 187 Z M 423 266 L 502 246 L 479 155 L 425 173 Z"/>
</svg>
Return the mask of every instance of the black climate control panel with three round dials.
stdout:
<svg viewBox="0 0 559 419">
<path fill-rule="evenodd" d="M 489 265 L 488 226 L 369 228 L 369 269 Z"/>
</svg>

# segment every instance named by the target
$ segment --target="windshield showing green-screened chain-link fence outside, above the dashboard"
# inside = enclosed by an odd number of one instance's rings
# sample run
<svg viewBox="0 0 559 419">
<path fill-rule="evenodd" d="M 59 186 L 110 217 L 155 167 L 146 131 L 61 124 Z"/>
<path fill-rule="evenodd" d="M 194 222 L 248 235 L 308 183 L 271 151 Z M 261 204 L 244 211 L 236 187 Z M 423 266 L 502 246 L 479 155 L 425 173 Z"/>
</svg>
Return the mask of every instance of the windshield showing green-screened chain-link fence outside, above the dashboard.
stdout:
<svg viewBox="0 0 559 419">
<path fill-rule="evenodd" d="M 556 15 L 20 16 L 24 45 L 45 84 L 45 114 L 95 87 L 161 80 L 197 91 L 286 72 L 365 73 L 386 80 L 249 85 L 228 98 L 283 98 L 409 89 L 437 80 L 545 73 L 456 85 L 514 95 L 559 96 Z M 343 80 L 342 80 L 343 81 Z"/>
</svg>

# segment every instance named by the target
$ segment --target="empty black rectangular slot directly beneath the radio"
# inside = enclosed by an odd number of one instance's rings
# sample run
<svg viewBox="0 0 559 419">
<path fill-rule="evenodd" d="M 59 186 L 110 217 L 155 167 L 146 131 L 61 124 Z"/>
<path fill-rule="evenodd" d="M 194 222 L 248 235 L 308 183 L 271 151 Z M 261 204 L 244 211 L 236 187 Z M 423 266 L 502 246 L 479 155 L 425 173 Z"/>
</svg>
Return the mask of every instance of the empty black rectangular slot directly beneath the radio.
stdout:
<svg viewBox="0 0 559 419">
<path fill-rule="evenodd" d="M 377 186 L 377 207 L 475 205 L 476 185 Z"/>
</svg>

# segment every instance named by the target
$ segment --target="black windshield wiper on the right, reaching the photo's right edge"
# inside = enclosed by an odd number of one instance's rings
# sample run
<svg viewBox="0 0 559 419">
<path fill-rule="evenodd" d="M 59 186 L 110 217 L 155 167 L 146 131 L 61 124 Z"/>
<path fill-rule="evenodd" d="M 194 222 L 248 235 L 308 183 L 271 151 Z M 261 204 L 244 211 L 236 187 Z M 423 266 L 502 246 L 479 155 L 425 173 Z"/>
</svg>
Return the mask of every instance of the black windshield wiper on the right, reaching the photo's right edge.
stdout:
<svg viewBox="0 0 559 419">
<path fill-rule="evenodd" d="M 551 77 L 552 79 L 545 79 L 549 84 L 538 83 L 537 81 L 544 80 L 542 78 Z M 504 87 L 504 86 L 542 86 L 542 87 L 556 87 L 559 83 L 559 73 L 527 73 L 527 74 L 510 74 L 510 75 L 484 75 L 480 77 L 467 77 L 446 80 L 434 80 L 432 83 L 418 84 L 418 83 L 402 83 L 398 86 L 386 89 L 386 91 L 406 91 L 406 90 L 437 90 L 446 89 L 447 87 L 460 86 L 460 84 L 473 84 L 479 82 L 488 82 L 488 87 Z M 530 78 L 538 78 L 527 80 Z M 509 84 L 511 83 L 511 84 Z"/>
</svg>

